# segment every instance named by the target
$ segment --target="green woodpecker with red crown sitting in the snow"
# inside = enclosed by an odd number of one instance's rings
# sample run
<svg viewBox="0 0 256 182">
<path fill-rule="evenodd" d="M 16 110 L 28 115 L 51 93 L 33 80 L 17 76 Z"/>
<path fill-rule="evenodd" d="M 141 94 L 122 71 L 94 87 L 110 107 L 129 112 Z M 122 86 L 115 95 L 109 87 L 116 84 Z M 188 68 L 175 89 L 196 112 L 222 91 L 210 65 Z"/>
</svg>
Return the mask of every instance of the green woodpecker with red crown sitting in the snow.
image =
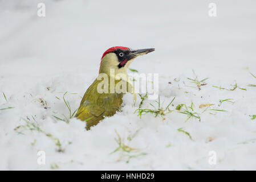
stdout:
<svg viewBox="0 0 256 182">
<path fill-rule="evenodd" d="M 137 56 L 152 51 L 155 51 L 155 49 L 133 50 L 128 47 L 116 46 L 107 49 L 107 51 L 103 53 L 99 76 L 97 76 L 96 80 L 86 90 L 86 93 L 84 93 L 78 112 L 75 115 L 76 118 L 86 121 L 87 130 L 89 130 L 91 126 L 97 125 L 101 119 L 111 117 L 116 111 L 119 111 L 123 102 L 123 94 L 126 91 L 135 94 L 132 83 L 129 81 L 127 75 L 127 69 Z M 107 76 L 107 80 L 104 82 L 107 83 L 107 88 L 104 88 L 106 85 L 103 85 L 104 92 L 101 92 L 102 78 L 104 78 L 104 75 Z M 118 75 L 123 75 L 123 77 L 120 79 Z M 125 81 L 127 86 L 123 86 L 122 88 L 122 85 L 120 84 L 121 81 L 122 83 Z M 123 92 L 116 90 L 118 84 L 121 85 L 120 89 Z"/>
</svg>

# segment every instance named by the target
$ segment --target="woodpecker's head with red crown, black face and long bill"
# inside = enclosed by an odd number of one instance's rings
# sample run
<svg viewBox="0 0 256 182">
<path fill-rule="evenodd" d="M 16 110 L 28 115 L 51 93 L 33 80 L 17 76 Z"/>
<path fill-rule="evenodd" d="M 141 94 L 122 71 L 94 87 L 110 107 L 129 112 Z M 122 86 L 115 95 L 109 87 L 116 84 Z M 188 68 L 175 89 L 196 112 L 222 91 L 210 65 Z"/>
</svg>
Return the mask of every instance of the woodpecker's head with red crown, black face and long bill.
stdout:
<svg viewBox="0 0 256 182">
<path fill-rule="evenodd" d="M 127 68 L 135 57 L 145 55 L 152 51 L 155 51 L 155 49 L 133 50 L 128 47 L 121 46 L 111 47 L 107 49 L 101 57 L 99 73 L 108 74 L 111 68 L 115 69 L 115 73 L 127 73 Z"/>
</svg>

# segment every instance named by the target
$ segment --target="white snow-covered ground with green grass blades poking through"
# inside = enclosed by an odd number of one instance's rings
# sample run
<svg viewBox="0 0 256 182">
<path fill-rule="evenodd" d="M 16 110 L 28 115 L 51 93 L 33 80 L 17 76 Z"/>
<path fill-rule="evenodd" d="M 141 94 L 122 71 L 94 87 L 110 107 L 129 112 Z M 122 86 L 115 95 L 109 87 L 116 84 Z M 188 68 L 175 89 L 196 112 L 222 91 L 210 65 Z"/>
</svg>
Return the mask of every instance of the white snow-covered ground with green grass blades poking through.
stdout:
<svg viewBox="0 0 256 182">
<path fill-rule="evenodd" d="M 0 169 L 255 170 L 255 9 L 253 0 L 0 1 Z M 68 119 L 64 93 L 72 114 L 112 46 L 156 48 L 131 68 L 160 74 L 161 107 L 176 97 L 164 120 L 140 119 L 131 94 L 90 131 Z M 208 78 L 201 90 L 192 70 Z M 197 117 L 176 110 L 192 102 Z"/>
</svg>

